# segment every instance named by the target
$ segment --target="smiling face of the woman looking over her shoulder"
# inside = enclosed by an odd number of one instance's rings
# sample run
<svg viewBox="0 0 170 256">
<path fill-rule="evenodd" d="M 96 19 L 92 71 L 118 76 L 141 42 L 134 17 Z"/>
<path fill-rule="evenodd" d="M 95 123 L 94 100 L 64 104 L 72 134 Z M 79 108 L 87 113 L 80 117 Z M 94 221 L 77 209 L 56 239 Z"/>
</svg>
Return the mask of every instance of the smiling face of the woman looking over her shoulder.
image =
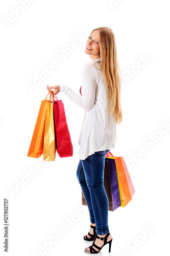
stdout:
<svg viewBox="0 0 170 256">
<path fill-rule="evenodd" d="M 85 53 L 90 55 L 92 60 L 100 57 L 100 33 L 94 30 L 88 37 L 86 42 Z"/>
</svg>

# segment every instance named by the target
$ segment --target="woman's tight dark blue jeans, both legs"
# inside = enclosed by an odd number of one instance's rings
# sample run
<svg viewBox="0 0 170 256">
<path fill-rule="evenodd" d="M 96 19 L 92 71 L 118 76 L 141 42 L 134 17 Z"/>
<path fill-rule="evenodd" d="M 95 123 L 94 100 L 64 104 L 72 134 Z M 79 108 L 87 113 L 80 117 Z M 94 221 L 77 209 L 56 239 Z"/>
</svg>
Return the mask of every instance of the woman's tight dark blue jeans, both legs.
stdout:
<svg viewBox="0 0 170 256">
<path fill-rule="evenodd" d="M 76 173 L 89 209 L 90 222 L 96 224 L 99 235 L 109 232 L 109 203 L 104 187 L 105 155 L 108 151 L 95 152 L 80 160 Z"/>
</svg>

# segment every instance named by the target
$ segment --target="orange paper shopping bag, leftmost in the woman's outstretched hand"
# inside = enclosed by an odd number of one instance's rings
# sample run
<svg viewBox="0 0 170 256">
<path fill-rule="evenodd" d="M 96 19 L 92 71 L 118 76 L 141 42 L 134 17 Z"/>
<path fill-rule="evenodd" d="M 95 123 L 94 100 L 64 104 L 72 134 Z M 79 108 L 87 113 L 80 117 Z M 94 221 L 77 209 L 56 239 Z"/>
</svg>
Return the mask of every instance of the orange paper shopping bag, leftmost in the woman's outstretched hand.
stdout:
<svg viewBox="0 0 170 256">
<path fill-rule="evenodd" d="M 47 102 L 48 102 L 46 98 L 41 101 L 37 121 L 35 124 L 34 133 L 32 136 L 29 152 L 27 155 L 28 157 L 39 158 L 43 154 L 45 117 L 46 117 L 46 109 L 47 109 Z"/>
</svg>

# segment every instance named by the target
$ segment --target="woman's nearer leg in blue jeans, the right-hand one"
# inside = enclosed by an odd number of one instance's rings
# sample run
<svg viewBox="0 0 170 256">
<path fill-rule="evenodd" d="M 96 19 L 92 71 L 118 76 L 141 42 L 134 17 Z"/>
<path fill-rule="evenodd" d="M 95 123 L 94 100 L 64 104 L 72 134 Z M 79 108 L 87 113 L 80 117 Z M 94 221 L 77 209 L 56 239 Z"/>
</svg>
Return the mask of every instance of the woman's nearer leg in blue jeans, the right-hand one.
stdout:
<svg viewBox="0 0 170 256">
<path fill-rule="evenodd" d="M 91 205 L 96 223 L 96 233 L 103 236 L 109 232 L 108 198 L 104 187 L 105 155 L 109 150 L 95 152 L 82 161 L 85 180 L 89 189 Z M 90 200 L 89 200 L 90 201 Z"/>
</svg>

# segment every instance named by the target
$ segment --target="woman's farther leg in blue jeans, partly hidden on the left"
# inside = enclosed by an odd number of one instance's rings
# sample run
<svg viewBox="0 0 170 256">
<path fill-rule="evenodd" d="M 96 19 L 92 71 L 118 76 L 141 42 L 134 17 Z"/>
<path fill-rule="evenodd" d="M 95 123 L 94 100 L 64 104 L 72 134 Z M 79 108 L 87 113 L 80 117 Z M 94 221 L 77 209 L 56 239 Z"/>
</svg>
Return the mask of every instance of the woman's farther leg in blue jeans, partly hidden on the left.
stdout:
<svg viewBox="0 0 170 256">
<path fill-rule="evenodd" d="M 84 198 L 85 198 L 87 206 L 88 206 L 89 215 L 90 215 L 90 222 L 92 224 L 94 224 L 95 219 L 94 219 L 94 214 L 93 214 L 93 208 L 92 208 L 92 205 L 91 205 L 90 191 L 87 187 L 85 174 L 84 174 L 84 169 L 83 169 L 83 166 L 82 166 L 82 160 L 79 161 L 76 175 L 77 175 L 78 181 L 80 183 L 80 186 L 81 186 L 83 194 L 84 194 Z M 90 233 L 92 234 L 92 230 L 91 230 Z"/>
</svg>

